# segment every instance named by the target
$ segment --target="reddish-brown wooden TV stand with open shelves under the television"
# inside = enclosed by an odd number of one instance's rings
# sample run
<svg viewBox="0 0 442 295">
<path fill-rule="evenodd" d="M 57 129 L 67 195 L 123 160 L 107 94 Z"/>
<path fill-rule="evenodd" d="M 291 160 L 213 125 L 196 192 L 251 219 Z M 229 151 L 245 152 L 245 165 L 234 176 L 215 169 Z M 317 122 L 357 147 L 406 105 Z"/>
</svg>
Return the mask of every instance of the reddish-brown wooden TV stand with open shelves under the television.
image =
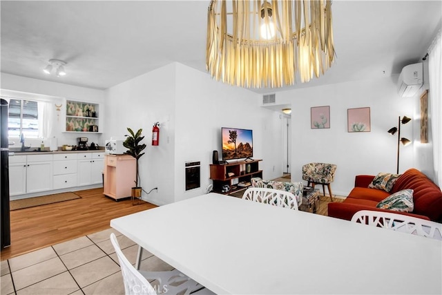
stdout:
<svg viewBox="0 0 442 295">
<path fill-rule="evenodd" d="M 259 169 L 260 161 L 262 160 L 210 164 L 210 179 L 213 180 L 213 191 L 216 193 L 234 193 L 247 189 L 251 185 L 251 178 L 262 178 L 262 170 Z M 222 192 L 224 185 L 229 185 L 230 191 Z"/>
</svg>

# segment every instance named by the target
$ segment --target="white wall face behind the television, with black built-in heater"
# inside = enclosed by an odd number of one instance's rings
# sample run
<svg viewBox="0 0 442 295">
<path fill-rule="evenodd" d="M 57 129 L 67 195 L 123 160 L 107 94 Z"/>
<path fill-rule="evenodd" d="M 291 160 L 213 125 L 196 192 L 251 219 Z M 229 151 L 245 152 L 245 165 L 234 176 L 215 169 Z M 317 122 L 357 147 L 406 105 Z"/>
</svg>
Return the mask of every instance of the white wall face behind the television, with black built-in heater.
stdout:
<svg viewBox="0 0 442 295">
<path fill-rule="evenodd" d="M 253 158 L 262 159 L 263 178 L 282 175 L 280 119 L 276 112 L 258 106 L 260 95 L 216 82 L 182 64 L 176 66 L 175 200 L 206 191 L 212 152 L 221 155 L 221 127 L 252 129 Z M 186 161 L 201 162 L 200 189 L 185 191 Z"/>
</svg>

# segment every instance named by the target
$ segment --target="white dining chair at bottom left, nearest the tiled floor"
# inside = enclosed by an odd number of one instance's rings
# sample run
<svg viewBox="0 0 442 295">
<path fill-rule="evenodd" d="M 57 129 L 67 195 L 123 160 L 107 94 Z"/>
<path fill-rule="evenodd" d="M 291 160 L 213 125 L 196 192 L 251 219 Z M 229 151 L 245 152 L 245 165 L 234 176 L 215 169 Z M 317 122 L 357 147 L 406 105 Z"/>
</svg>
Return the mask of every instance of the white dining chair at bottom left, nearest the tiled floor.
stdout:
<svg viewBox="0 0 442 295">
<path fill-rule="evenodd" d="M 169 272 L 146 272 L 137 270 L 122 250 L 115 234 L 111 234 L 111 242 L 117 253 L 119 266 L 122 269 L 124 292 L 128 294 L 213 294 L 209 289 L 184 276 L 176 269 Z M 151 285 L 150 281 L 157 280 L 157 285 Z M 196 292 L 195 292 L 196 291 Z"/>
</svg>

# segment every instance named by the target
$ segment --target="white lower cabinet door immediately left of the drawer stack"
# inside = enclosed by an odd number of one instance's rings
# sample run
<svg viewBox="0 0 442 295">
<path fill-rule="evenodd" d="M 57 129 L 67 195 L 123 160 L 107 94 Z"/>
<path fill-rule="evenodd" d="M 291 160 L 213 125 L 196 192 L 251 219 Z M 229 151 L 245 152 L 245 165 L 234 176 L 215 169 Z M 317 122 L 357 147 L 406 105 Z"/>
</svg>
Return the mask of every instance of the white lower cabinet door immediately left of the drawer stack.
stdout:
<svg viewBox="0 0 442 295">
<path fill-rule="evenodd" d="M 26 193 L 50 191 L 52 189 L 52 161 L 28 161 L 26 169 Z"/>
</svg>

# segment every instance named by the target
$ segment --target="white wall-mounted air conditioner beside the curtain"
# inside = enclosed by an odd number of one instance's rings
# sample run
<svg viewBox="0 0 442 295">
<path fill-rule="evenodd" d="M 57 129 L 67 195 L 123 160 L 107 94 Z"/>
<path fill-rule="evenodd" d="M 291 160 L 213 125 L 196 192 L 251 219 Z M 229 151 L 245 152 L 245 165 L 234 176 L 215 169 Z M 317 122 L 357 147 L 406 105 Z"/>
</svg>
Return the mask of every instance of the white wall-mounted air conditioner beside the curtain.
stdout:
<svg viewBox="0 0 442 295">
<path fill-rule="evenodd" d="M 398 79 L 398 94 L 401 97 L 412 97 L 423 85 L 423 64 L 404 66 Z"/>
</svg>

